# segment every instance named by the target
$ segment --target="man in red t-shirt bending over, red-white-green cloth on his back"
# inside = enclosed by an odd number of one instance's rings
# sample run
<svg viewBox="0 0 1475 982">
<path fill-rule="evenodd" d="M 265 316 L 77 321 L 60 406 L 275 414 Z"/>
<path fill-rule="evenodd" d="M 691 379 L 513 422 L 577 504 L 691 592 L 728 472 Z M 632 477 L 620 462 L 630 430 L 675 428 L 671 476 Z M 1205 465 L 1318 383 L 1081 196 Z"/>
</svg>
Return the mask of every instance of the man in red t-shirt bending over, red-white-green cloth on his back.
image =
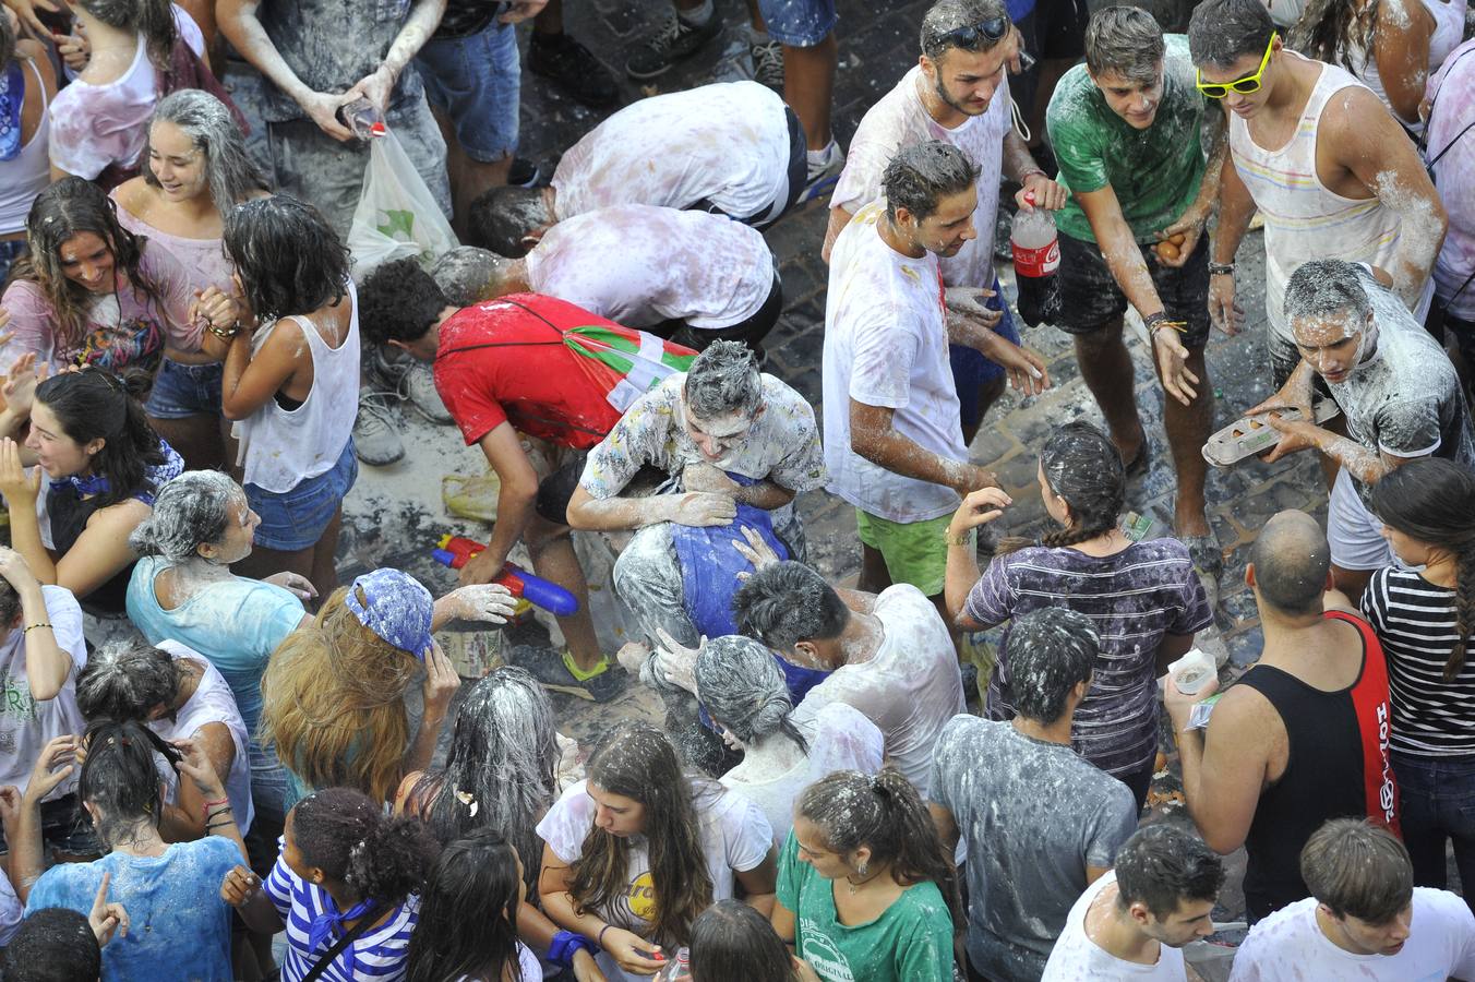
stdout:
<svg viewBox="0 0 1475 982">
<path fill-rule="evenodd" d="M 491 582 L 524 543 L 532 572 L 572 593 L 578 610 L 559 618 L 562 652 L 519 646 L 512 661 L 547 687 L 614 697 L 622 683 L 608 672 L 612 661 L 594 635 L 589 584 L 569 538 L 569 497 L 586 453 L 695 352 L 540 293 L 459 308 L 416 260 L 378 267 L 360 302 L 370 341 L 434 363 L 435 386 L 462 438 L 481 447 L 497 473 L 497 525 L 485 551 L 462 566 L 462 584 Z"/>
</svg>

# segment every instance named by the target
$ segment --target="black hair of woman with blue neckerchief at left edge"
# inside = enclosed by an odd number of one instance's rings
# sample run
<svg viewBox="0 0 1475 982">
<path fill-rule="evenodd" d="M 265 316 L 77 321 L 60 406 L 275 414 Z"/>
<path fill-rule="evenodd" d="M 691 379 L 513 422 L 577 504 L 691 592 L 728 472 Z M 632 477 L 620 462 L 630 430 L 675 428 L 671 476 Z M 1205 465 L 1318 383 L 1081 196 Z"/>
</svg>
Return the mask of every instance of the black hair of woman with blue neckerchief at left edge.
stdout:
<svg viewBox="0 0 1475 982">
<path fill-rule="evenodd" d="M 35 386 L 35 401 L 56 416 L 62 435 L 86 445 L 103 439 L 93 454 L 93 475 L 108 478 L 108 490 L 97 494 L 97 507 L 108 507 L 131 495 L 156 488 L 148 469 L 164 463 L 159 435 L 139 404 L 142 376 L 127 380 L 106 369 L 65 372 Z"/>
</svg>

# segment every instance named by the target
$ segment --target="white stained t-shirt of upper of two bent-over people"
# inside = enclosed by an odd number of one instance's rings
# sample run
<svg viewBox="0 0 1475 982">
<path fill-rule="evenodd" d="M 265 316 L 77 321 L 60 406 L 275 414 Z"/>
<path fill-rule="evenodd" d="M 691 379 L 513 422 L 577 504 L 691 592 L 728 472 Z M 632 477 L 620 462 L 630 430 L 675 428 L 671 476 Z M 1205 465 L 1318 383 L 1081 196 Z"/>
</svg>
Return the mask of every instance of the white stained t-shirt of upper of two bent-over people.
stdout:
<svg viewBox="0 0 1475 982">
<path fill-rule="evenodd" d="M 559 218 L 611 205 L 690 208 L 701 201 L 749 218 L 788 186 L 783 99 L 754 81 L 640 99 L 571 146 L 553 171 Z"/>
</svg>

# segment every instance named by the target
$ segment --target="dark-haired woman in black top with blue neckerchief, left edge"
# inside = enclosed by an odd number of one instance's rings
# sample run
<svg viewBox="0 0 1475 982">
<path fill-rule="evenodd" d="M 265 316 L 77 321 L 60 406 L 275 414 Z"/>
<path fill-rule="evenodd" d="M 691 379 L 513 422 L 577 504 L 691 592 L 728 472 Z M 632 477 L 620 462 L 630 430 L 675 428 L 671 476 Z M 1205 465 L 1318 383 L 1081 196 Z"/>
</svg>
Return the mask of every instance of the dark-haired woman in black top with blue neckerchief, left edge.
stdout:
<svg viewBox="0 0 1475 982">
<path fill-rule="evenodd" d="M 136 559 L 128 537 L 184 466 L 149 426 L 134 392 L 102 369 L 35 385 L 27 357 L 0 411 L 0 494 L 12 547 L 38 581 L 71 590 L 103 615 L 122 613 Z M 27 419 L 22 448 L 13 435 Z M 28 463 L 40 466 L 27 473 Z"/>
</svg>

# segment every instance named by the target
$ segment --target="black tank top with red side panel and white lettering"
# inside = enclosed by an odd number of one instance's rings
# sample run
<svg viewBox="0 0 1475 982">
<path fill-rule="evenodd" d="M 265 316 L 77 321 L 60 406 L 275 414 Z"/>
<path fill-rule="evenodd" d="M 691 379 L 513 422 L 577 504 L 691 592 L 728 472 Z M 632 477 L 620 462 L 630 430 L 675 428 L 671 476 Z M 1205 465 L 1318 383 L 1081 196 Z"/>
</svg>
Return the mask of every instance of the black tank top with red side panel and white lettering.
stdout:
<svg viewBox="0 0 1475 982">
<path fill-rule="evenodd" d="M 1286 770 L 1260 793 L 1245 838 L 1245 907 L 1255 920 L 1310 895 L 1301 849 L 1329 818 L 1367 815 L 1398 832 L 1398 789 L 1388 756 L 1388 668 L 1372 628 L 1329 610 L 1361 635 L 1363 668 L 1339 692 L 1313 689 L 1270 665 L 1255 665 L 1249 686 L 1274 706 L 1286 728 Z"/>
</svg>

